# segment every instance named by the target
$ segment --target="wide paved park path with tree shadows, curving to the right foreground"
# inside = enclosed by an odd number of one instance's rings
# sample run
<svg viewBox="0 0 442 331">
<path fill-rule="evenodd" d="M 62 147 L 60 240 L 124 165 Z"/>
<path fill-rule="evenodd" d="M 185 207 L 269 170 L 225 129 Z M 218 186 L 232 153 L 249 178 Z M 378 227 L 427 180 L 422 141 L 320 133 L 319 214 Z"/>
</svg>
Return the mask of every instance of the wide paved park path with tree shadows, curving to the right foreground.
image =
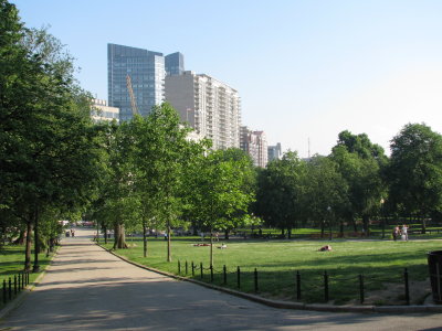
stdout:
<svg viewBox="0 0 442 331">
<path fill-rule="evenodd" d="M 274 309 L 127 264 L 65 238 L 40 285 L 2 330 L 442 330 L 442 314 L 361 314 Z"/>
</svg>

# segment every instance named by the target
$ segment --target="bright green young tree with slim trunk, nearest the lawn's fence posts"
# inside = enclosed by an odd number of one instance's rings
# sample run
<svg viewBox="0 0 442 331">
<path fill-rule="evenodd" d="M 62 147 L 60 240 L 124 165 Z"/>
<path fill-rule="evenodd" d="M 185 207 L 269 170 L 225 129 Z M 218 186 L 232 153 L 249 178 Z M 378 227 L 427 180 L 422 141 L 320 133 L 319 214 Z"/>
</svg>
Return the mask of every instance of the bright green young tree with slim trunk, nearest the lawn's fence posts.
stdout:
<svg viewBox="0 0 442 331">
<path fill-rule="evenodd" d="M 248 186 L 253 164 L 238 150 L 200 154 L 188 172 L 191 215 L 198 226 L 210 233 L 210 265 L 213 265 L 213 232 L 233 228 L 249 220 L 253 192 Z"/>
</svg>

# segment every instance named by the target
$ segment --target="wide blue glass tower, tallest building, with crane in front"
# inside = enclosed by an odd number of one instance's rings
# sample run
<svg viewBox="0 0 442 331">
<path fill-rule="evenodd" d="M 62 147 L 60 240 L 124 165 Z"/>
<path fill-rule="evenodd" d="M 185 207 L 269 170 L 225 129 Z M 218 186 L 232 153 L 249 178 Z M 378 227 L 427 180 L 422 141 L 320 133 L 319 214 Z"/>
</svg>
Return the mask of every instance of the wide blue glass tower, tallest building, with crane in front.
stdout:
<svg viewBox="0 0 442 331">
<path fill-rule="evenodd" d="M 133 117 L 131 96 L 141 116 L 165 100 L 165 57 L 162 53 L 107 44 L 108 103 L 119 108 L 120 121 Z"/>
</svg>

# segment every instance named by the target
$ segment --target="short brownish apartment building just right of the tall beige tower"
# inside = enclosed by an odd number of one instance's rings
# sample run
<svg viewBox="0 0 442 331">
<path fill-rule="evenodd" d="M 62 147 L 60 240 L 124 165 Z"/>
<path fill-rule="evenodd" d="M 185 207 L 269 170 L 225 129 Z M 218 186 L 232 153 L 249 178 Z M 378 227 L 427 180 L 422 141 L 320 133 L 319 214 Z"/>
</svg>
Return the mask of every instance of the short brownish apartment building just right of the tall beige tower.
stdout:
<svg viewBox="0 0 442 331">
<path fill-rule="evenodd" d="M 267 166 L 267 139 L 264 131 L 252 131 L 248 127 L 241 127 L 240 146 L 252 158 L 254 166 Z"/>
</svg>

